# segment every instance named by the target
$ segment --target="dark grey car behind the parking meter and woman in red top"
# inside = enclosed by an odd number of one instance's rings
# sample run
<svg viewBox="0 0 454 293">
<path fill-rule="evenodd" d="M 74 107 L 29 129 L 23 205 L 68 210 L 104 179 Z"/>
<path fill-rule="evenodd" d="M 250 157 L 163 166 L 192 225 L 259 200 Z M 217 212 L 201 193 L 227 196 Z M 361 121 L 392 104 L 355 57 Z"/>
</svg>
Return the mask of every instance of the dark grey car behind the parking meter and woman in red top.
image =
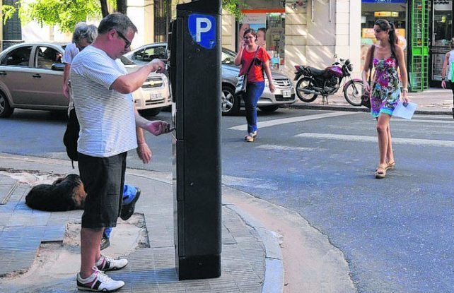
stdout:
<svg viewBox="0 0 454 293">
<path fill-rule="evenodd" d="M 240 95 L 235 95 L 235 85 L 238 80 L 240 67 L 235 66 L 236 53 L 222 48 L 222 95 L 221 107 L 223 115 L 235 115 L 240 111 L 240 107 L 244 107 L 243 99 Z M 124 56 L 134 61 L 136 64 L 146 64 L 149 61 L 158 59 L 168 59 L 167 43 L 146 44 L 137 49 L 128 52 Z M 265 112 L 273 112 L 279 109 L 282 105 L 293 104 L 295 102 L 295 88 L 291 83 L 290 78 L 279 71 L 272 70 L 273 84 L 276 91 L 269 91 L 269 83 L 265 76 L 265 89 L 257 102 L 257 107 Z"/>
</svg>

